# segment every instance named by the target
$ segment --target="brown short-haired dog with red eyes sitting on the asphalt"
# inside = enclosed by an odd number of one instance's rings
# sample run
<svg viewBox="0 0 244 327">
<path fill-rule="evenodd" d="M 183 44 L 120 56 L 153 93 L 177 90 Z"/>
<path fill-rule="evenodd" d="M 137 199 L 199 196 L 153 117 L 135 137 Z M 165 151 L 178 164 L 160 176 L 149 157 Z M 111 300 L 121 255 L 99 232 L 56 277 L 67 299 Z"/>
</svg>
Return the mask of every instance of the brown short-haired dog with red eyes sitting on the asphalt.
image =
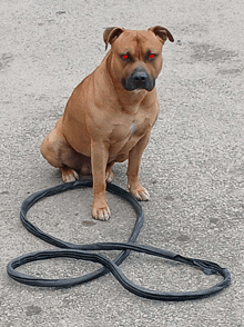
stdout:
<svg viewBox="0 0 244 327">
<path fill-rule="evenodd" d="M 62 172 L 63 181 L 91 168 L 92 217 L 108 220 L 106 181 L 112 166 L 129 159 L 128 188 L 139 200 L 149 194 L 139 182 L 139 166 L 159 113 L 155 79 L 162 68 L 162 46 L 170 31 L 156 26 L 148 31 L 108 28 L 111 44 L 101 65 L 71 95 L 64 115 L 41 145 L 48 162 Z"/>
</svg>

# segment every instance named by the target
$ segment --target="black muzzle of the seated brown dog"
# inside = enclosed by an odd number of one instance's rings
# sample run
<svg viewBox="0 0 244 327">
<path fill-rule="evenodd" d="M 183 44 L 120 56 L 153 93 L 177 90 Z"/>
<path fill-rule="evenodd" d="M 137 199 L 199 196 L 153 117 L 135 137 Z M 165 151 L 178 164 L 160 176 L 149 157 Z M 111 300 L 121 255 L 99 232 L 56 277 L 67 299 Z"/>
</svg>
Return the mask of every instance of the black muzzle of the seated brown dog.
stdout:
<svg viewBox="0 0 244 327">
<path fill-rule="evenodd" d="M 136 68 L 126 79 L 122 79 L 122 86 L 126 91 L 134 91 L 136 89 L 152 91 L 155 86 L 155 79 L 151 78 L 143 68 Z"/>
</svg>

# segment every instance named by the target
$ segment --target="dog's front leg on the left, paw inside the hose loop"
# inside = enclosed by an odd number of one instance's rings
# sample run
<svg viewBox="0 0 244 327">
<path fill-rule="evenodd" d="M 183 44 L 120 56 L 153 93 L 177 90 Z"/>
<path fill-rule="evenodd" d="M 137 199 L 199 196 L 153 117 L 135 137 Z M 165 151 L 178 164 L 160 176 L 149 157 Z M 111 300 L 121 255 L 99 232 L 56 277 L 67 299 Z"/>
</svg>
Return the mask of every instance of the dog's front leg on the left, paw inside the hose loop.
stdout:
<svg viewBox="0 0 244 327">
<path fill-rule="evenodd" d="M 111 216 L 105 197 L 105 169 L 109 158 L 109 149 L 102 142 L 91 143 L 91 165 L 93 178 L 92 217 L 99 220 L 108 220 Z"/>
</svg>

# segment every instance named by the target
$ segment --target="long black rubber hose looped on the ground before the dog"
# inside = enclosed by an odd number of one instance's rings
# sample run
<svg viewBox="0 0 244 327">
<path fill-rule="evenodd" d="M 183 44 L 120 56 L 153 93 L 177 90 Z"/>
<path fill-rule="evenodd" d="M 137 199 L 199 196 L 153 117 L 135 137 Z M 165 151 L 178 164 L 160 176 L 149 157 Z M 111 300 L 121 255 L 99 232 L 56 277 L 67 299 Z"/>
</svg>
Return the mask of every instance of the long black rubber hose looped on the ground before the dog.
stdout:
<svg viewBox="0 0 244 327">
<path fill-rule="evenodd" d="M 39 192 L 35 192 L 31 196 L 29 196 L 21 206 L 20 211 L 20 219 L 23 224 L 23 226 L 33 235 L 39 237 L 40 239 L 54 245 L 59 248 L 58 250 L 48 250 L 48 251 L 37 251 L 28 255 L 23 255 L 17 259 L 13 259 L 9 262 L 7 266 L 8 275 L 22 284 L 31 285 L 31 286 L 42 286 L 42 287 L 71 287 L 75 285 L 80 285 L 87 281 L 90 281 L 92 279 L 96 279 L 108 272 L 112 272 L 112 275 L 118 279 L 118 281 L 128 290 L 131 293 L 150 298 L 150 299 L 156 299 L 156 300 L 189 300 L 189 299 L 199 299 L 199 298 L 205 298 L 211 295 L 214 295 L 224 288 L 228 287 L 231 285 L 231 274 L 227 269 L 220 267 L 217 264 L 200 260 L 200 259 L 193 259 L 193 258 L 186 258 L 163 249 L 154 248 L 152 246 L 142 246 L 135 244 L 136 238 L 141 231 L 141 228 L 143 226 L 144 220 L 144 214 L 142 211 L 141 206 L 139 202 L 125 190 L 122 188 L 108 184 L 106 190 L 111 194 L 114 194 L 119 197 L 122 197 L 128 202 L 131 204 L 131 206 L 134 208 L 136 212 L 136 221 L 134 225 L 134 228 L 131 232 L 131 236 L 128 240 L 128 242 L 96 242 L 96 244 L 90 244 L 90 245 L 74 245 L 71 242 L 65 242 L 61 239 L 58 239 L 51 235 L 48 235 L 43 231 L 41 231 L 38 227 L 32 225 L 27 219 L 27 212 L 28 210 L 40 199 L 50 197 L 57 194 L 61 194 L 68 190 L 78 189 L 78 188 L 84 188 L 84 187 L 92 187 L 91 180 L 81 180 L 81 181 L 74 181 L 70 184 L 63 184 L 53 188 L 49 188 Z M 94 254 L 92 250 L 121 250 L 120 255 L 114 259 L 110 260 L 106 257 Z M 119 266 L 124 261 L 124 259 L 130 255 L 130 251 L 138 251 L 138 252 L 144 252 L 146 255 L 162 257 L 166 259 L 171 259 L 174 261 L 183 262 L 190 266 L 193 266 L 195 268 L 201 269 L 206 275 L 222 275 L 223 280 L 215 286 L 204 289 L 204 290 L 196 290 L 196 291 L 185 291 L 185 293 L 163 293 L 163 291 L 155 291 L 145 289 L 143 287 L 140 287 L 129 280 L 122 270 L 119 268 Z M 22 272 L 19 272 L 16 270 L 16 268 L 37 260 L 45 260 L 51 258 L 74 258 L 74 259 L 81 259 L 87 261 L 93 261 L 99 262 L 103 266 L 103 268 L 87 274 L 81 277 L 77 278 L 68 278 L 68 279 L 42 279 L 42 278 L 35 278 L 30 275 L 26 275 Z"/>
</svg>

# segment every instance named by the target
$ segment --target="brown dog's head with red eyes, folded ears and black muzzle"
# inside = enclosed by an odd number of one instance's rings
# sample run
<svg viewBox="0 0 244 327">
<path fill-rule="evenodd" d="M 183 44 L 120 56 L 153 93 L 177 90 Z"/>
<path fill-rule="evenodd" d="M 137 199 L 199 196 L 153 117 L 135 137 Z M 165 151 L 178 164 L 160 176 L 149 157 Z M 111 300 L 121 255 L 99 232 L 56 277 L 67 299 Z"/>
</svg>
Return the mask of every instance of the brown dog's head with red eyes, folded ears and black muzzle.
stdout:
<svg viewBox="0 0 244 327">
<path fill-rule="evenodd" d="M 111 44 L 111 72 L 126 91 L 145 89 L 151 91 L 162 68 L 162 46 L 171 32 L 160 26 L 148 31 L 132 31 L 122 28 L 108 28 L 104 42 Z"/>
</svg>

